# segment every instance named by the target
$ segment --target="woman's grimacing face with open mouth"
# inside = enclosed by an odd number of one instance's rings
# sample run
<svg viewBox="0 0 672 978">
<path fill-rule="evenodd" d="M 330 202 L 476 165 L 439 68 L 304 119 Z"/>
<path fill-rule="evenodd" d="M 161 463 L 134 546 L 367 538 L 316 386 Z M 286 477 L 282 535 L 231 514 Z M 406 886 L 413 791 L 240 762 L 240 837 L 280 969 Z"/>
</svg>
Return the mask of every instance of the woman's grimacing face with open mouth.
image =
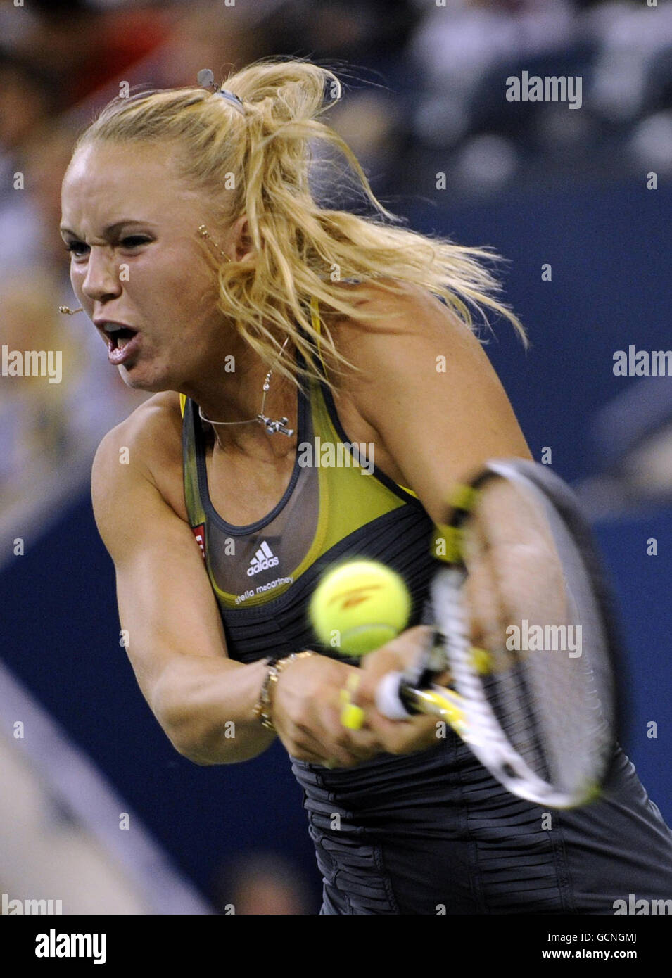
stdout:
<svg viewBox="0 0 672 978">
<path fill-rule="evenodd" d="M 112 365 L 129 386 L 149 391 L 221 377 L 235 352 L 198 228 L 205 224 L 227 254 L 240 257 L 238 227 L 210 226 L 212 203 L 180 177 L 175 152 L 92 144 L 75 154 L 63 184 L 72 288 Z"/>
</svg>

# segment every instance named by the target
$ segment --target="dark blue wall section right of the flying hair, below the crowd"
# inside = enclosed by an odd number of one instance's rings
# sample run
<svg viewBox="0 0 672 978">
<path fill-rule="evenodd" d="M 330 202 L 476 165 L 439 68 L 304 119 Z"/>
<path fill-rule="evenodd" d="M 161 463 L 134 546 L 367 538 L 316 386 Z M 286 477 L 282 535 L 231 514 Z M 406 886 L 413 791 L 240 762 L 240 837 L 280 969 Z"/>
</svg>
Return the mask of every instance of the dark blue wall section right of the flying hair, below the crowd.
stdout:
<svg viewBox="0 0 672 978">
<path fill-rule="evenodd" d="M 531 349 L 502 322 L 487 350 L 535 457 L 551 446 L 554 468 L 573 480 L 595 464 L 594 412 L 634 382 L 613 376 L 614 350 L 670 345 L 672 188 L 648 191 L 643 180 L 518 190 L 452 209 L 440 192 L 434 199 L 407 208 L 413 227 L 492 245 L 510 262 L 506 298 Z M 552 282 L 542 282 L 546 263 Z"/>
</svg>

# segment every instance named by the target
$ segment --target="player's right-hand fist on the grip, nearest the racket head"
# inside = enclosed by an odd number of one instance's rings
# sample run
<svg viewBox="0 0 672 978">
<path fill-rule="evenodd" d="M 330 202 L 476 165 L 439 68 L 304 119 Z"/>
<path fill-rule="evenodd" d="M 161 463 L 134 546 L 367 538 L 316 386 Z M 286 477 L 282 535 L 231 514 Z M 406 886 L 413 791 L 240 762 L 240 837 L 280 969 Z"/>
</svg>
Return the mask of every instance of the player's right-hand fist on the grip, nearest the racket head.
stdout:
<svg viewBox="0 0 672 978">
<path fill-rule="evenodd" d="M 411 754 L 433 746 L 438 738 L 437 718 L 418 714 L 409 720 L 388 720 L 376 709 L 376 689 L 388 672 L 404 672 L 418 659 L 433 630 L 418 625 L 402 632 L 362 660 L 362 677 L 352 701 L 366 713 L 366 729 L 375 733 L 389 754 Z"/>
</svg>

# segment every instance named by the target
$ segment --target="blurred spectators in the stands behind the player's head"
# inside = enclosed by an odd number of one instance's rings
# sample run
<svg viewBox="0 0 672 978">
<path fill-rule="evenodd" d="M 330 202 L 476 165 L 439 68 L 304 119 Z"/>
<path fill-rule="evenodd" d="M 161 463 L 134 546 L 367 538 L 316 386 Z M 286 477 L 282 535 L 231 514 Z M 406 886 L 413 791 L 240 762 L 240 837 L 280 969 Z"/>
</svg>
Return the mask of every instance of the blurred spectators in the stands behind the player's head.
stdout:
<svg viewBox="0 0 672 978">
<path fill-rule="evenodd" d="M 61 403 L 3 385 L 0 493 L 137 403 L 80 321 L 58 224 L 76 133 L 121 80 L 195 84 L 266 55 L 342 65 L 333 122 L 394 209 L 444 172 L 453 200 L 516 183 L 672 172 L 672 8 L 644 0 L 237 0 L 0 4 L 0 287 L 10 348 L 63 347 Z M 503 79 L 580 75 L 583 107 L 507 102 Z M 14 174 L 24 174 L 22 190 Z M 71 303 L 74 305 L 74 303 Z M 39 334 L 38 334 L 39 333 Z M 39 343 L 38 343 L 39 340 Z M 25 348 L 31 348 L 30 344 Z M 39 481 L 39 479 L 38 479 Z"/>
</svg>

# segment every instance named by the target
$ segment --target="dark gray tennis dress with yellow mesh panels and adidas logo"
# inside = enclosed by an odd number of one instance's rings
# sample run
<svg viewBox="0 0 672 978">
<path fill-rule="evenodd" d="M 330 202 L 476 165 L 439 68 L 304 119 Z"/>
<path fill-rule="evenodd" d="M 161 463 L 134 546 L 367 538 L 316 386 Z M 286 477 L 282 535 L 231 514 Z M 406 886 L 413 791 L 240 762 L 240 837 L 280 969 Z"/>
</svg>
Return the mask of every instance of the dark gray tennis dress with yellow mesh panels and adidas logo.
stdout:
<svg viewBox="0 0 672 978">
<path fill-rule="evenodd" d="M 183 408 L 187 508 L 231 658 L 303 648 L 335 655 L 316 642 L 306 608 L 325 567 L 345 556 L 402 574 L 411 625 L 426 620 L 432 522 L 411 491 L 366 470 L 326 384 L 312 381 L 299 394 L 287 492 L 248 526 L 213 509 L 211 435 L 192 401 Z M 342 453 L 340 464 L 330 451 Z M 620 749 L 605 796 L 570 812 L 545 812 L 507 792 L 452 732 L 411 755 L 341 770 L 292 759 L 292 771 L 324 877 L 322 913 L 612 914 L 630 894 L 670 901 L 672 912 L 672 833 Z"/>
</svg>

